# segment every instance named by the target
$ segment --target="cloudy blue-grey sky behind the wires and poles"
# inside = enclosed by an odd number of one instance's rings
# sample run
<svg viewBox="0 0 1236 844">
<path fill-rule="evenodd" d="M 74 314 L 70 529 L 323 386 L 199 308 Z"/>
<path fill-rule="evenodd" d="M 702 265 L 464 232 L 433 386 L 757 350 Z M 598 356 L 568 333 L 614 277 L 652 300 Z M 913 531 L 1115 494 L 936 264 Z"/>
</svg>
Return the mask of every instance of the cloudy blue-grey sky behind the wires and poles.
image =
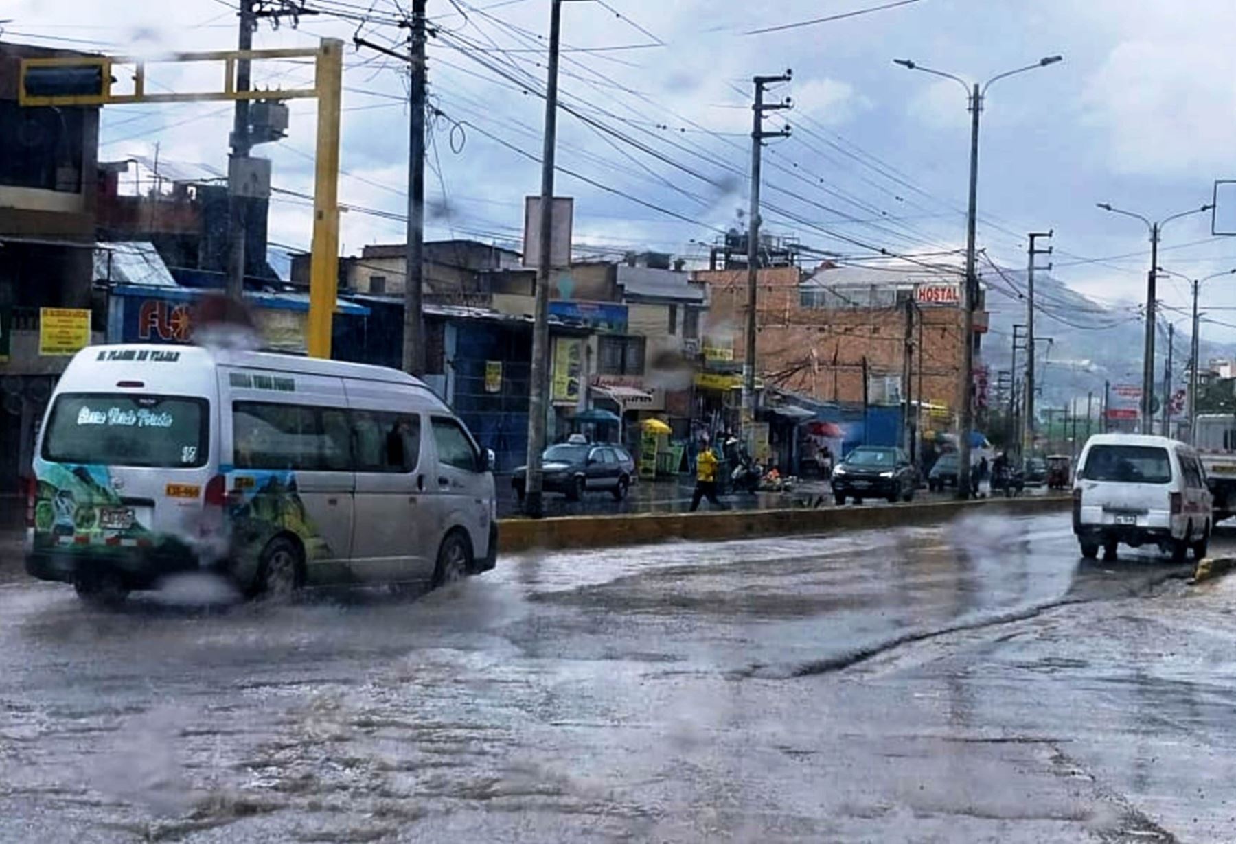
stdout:
<svg viewBox="0 0 1236 844">
<path fill-rule="evenodd" d="M 740 225 L 747 205 L 753 74 L 794 69 L 779 87 L 792 126 L 765 153 L 768 230 L 849 257 L 874 250 L 939 253 L 964 241 L 969 121 L 957 83 L 892 64 L 985 80 L 1042 56 L 1064 62 L 1002 79 L 983 112 L 979 245 L 1025 264 L 1025 232 L 1054 229 L 1054 274 L 1128 306 L 1145 298 L 1148 245 L 1110 201 L 1158 219 L 1210 200 L 1236 178 L 1236 4 L 1189 0 L 911 0 L 813 25 L 750 33 L 889 5 L 892 0 L 571 0 L 562 14 L 557 193 L 576 198 L 577 245 L 659 248 L 698 258 Z M 407 0 L 308 0 L 323 14 L 265 23 L 258 47 L 362 37 L 402 48 Z M 751 9 L 759 9 L 751 15 Z M 103 52 L 216 49 L 235 44 L 225 0 L 5 0 L 5 40 Z M 367 16 L 367 12 L 372 14 Z M 518 240 L 522 198 L 539 190 L 548 0 L 429 0 L 433 126 L 430 236 Z M 368 20 L 361 20 L 365 17 Z M 187 89 L 218 67 L 163 65 L 158 85 Z M 400 240 L 405 209 L 405 75 L 372 51 L 347 49 L 340 198 L 345 252 Z M 303 63 L 255 68 L 263 85 L 311 79 Z M 289 137 L 261 147 L 276 185 L 313 190 L 314 105 L 292 106 Z M 153 156 L 224 168 L 224 104 L 105 110 L 100 157 Z M 580 178 L 582 177 L 582 178 Z M 637 201 L 638 200 L 638 201 Z M 367 210 L 387 213 L 376 215 Z M 1236 227 L 1236 193 L 1225 206 Z M 1213 237 L 1209 214 L 1164 231 L 1161 263 L 1189 277 L 1236 267 L 1236 238 Z M 304 200 L 281 194 L 272 241 L 308 247 Z M 939 257 L 931 257 L 939 261 Z M 1187 306 L 1187 284 L 1161 284 Z M 1215 279 L 1210 308 L 1236 308 L 1236 277 Z M 1173 319 L 1178 314 L 1170 314 Z M 1236 310 L 1210 316 L 1236 325 Z M 1211 324 L 1215 335 L 1236 330 Z M 1216 337 L 1217 339 L 1217 337 Z"/>
</svg>

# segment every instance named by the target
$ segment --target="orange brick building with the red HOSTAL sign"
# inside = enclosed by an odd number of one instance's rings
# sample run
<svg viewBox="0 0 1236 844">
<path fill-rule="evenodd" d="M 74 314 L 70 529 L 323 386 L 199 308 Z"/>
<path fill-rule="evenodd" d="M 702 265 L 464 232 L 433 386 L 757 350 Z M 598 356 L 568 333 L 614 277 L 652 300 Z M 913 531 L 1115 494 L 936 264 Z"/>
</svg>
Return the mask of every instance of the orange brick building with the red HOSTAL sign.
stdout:
<svg viewBox="0 0 1236 844">
<path fill-rule="evenodd" d="M 745 348 L 747 272 L 702 271 L 696 277 L 709 289 L 706 356 L 728 357 L 732 350 L 733 360 L 740 362 Z M 913 271 L 837 267 L 827 262 L 810 273 L 797 267 L 761 269 L 758 374 L 770 387 L 819 400 L 861 403 L 865 371 L 870 403 L 900 403 L 908 332 L 911 398 L 920 402 L 921 392 L 922 402 L 937 408 L 936 425 L 944 426 L 957 405 L 962 357 L 963 315 L 957 306 L 957 289 L 954 278 Z M 976 313 L 976 330 L 985 330 L 985 314 Z M 981 378 L 976 381 L 981 394 L 985 386 Z M 921 424 L 929 426 L 927 419 Z"/>
</svg>

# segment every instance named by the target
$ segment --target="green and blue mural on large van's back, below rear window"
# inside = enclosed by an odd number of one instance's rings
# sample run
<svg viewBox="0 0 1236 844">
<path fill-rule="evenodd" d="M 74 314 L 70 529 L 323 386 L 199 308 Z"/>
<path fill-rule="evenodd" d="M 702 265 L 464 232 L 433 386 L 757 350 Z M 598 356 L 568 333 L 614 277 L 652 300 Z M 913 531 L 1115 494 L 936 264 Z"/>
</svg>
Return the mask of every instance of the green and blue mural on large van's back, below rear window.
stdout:
<svg viewBox="0 0 1236 844">
<path fill-rule="evenodd" d="M 112 489 L 105 466 L 36 458 L 35 478 L 36 544 L 122 547 L 151 541 L 150 529 L 132 517 Z"/>
</svg>

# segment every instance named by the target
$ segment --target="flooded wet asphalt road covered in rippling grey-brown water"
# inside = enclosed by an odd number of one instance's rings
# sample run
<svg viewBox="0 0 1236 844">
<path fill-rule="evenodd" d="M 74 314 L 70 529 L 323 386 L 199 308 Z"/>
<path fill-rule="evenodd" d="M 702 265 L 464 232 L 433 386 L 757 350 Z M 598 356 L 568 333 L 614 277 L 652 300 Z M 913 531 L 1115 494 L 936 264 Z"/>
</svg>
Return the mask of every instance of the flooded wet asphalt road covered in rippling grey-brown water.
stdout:
<svg viewBox="0 0 1236 844">
<path fill-rule="evenodd" d="M 1067 514 L 210 610 L 16 565 L 2 842 L 1236 838 L 1236 578 Z"/>
</svg>

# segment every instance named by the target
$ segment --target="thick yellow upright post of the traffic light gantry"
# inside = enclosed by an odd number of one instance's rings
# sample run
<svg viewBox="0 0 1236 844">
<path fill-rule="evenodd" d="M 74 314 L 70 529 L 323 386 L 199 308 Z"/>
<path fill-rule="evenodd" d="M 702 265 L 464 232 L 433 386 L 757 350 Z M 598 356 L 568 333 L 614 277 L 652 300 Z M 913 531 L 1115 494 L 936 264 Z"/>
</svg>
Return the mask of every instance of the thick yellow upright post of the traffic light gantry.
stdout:
<svg viewBox="0 0 1236 844">
<path fill-rule="evenodd" d="M 330 326 L 339 287 L 339 114 L 344 88 L 344 42 L 323 38 L 318 49 L 318 148 L 309 269 L 309 357 L 330 357 Z"/>
</svg>

